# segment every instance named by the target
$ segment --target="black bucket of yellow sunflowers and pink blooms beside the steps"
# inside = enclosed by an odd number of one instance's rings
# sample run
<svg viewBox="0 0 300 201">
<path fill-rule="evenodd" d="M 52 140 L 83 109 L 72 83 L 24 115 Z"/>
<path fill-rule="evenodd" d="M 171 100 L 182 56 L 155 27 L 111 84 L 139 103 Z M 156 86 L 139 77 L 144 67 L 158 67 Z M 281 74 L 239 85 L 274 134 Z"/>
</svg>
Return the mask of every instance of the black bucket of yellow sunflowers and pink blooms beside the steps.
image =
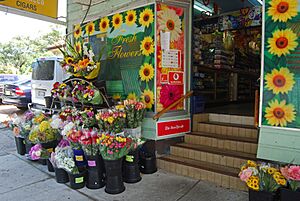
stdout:
<svg viewBox="0 0 300 201">
<path fill-rule="evenodd" d="M 241 167 L 239 177 L 249 188 L 249 201 L 275 201 L 278 188 L 286 186 L 286 180 L 279 169 L 270 164 L 256 164 L 251 160 Z"/>
</svg>

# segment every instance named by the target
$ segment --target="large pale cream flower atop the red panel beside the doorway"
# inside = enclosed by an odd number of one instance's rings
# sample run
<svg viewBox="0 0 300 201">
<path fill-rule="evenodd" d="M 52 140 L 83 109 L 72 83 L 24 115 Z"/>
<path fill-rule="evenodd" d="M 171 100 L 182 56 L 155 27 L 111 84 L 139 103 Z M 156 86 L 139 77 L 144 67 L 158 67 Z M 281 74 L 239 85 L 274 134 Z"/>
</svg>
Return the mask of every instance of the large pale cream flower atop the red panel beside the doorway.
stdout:
<svg viewBox="0 0 300 201">
<path fill-rule="evenodd" d="M 182 33 L 181 20 L 175 10 L 168 9 L 158 12 L 158 29 L 171 33 L 171 42 L 177 41 Z"/>
</svg>

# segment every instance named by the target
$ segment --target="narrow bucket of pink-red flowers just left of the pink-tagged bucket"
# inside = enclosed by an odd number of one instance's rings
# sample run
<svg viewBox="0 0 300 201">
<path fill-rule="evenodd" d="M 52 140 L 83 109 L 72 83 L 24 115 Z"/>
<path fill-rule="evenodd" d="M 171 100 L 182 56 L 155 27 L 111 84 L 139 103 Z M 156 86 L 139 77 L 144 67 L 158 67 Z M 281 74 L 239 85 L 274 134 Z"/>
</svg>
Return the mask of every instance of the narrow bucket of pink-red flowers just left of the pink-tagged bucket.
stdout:
<svg viewBox="0 0 300 201">
<path fill-rule="evenodd" d="M 75 164 L 78 167 L 85 167 L 86 166 L 86 159 L 84 156 L 84 152 L 82 150 L 82 146 L 79 142 L 82 136 L 82 130 L 73 128 L 67 133 L 67 139 L 70 142 L 74 153 L 74 160 Z"/>
</svg>

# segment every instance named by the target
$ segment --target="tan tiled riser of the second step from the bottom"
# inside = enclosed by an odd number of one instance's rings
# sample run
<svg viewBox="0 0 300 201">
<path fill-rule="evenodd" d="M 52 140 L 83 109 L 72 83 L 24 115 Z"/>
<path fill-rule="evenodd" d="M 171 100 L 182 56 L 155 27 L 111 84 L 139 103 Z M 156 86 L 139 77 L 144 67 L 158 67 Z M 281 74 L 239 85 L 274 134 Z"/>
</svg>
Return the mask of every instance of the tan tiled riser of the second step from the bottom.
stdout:
<svg viewBox="0 0 300 201">
<path fill-rule="evenodd" d="M 242 164 L 246 163 L 246 159 L 222 156 L 219 154 L 208 153 L 204 151 L 196 151 L 192 149 L 186 149 L 183 147 L 171 146 L 171 154 L 174 156 L 189 158 L 198 161 L 207 161 L 217 165 L 223 165 L 227 167 L 240 168 Z"/>
</svg>

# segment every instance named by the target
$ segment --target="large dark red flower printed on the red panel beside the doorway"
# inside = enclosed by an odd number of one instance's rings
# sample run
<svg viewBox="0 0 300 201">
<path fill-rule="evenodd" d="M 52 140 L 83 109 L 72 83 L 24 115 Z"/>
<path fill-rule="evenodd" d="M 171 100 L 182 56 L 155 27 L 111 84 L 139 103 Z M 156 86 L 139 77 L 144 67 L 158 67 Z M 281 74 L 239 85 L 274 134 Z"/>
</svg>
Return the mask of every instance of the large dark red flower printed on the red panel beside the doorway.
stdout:
<svg viewBox="0 0 300 201">
<path fill-rule="evenodd" d="M 166 108 L 181 98 L 180 86 L 164 85 L 160 91 L 160 103 Z M 176 106 L 175 106 L 176 107 Z M 175 108 L 174 107 L 174 108 Z M 172 108 L 173 109 L 173 108 Z"/>
</svg>

